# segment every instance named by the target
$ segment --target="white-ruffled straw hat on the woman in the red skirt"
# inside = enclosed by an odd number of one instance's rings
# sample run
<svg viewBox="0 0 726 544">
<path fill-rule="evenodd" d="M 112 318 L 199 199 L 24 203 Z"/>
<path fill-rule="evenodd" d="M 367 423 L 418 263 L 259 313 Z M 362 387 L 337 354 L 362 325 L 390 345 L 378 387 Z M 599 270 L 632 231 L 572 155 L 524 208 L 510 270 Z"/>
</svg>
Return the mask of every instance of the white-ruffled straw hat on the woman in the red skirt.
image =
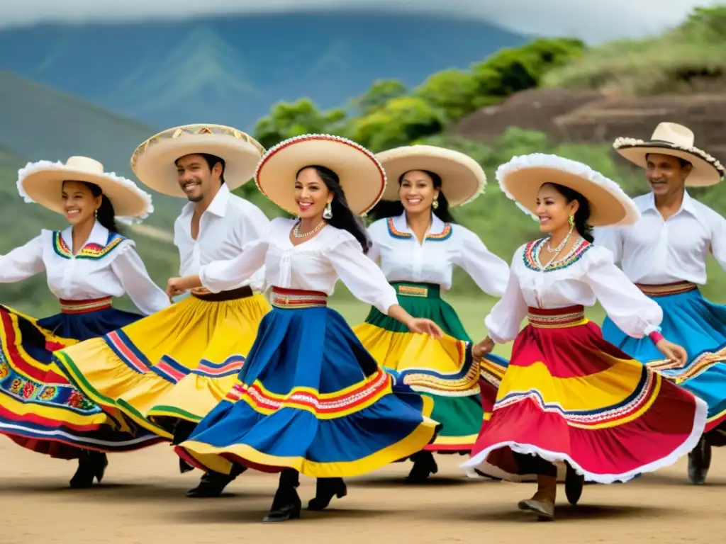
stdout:
<svg viewBox="0 0 726 544">
<path fill-rule="evenodd" d="M 558 155 L 532 153 L 513 157 L 497 168 L 504 194 L 522 210 L 537 216 L 537 193 L 542 184 L 559 184 L 577 191 L 590 204 L 592 226 L 627 226 L 640 218 L 635 202 L 615 181 L 588 165 Z"/>
</svg>

